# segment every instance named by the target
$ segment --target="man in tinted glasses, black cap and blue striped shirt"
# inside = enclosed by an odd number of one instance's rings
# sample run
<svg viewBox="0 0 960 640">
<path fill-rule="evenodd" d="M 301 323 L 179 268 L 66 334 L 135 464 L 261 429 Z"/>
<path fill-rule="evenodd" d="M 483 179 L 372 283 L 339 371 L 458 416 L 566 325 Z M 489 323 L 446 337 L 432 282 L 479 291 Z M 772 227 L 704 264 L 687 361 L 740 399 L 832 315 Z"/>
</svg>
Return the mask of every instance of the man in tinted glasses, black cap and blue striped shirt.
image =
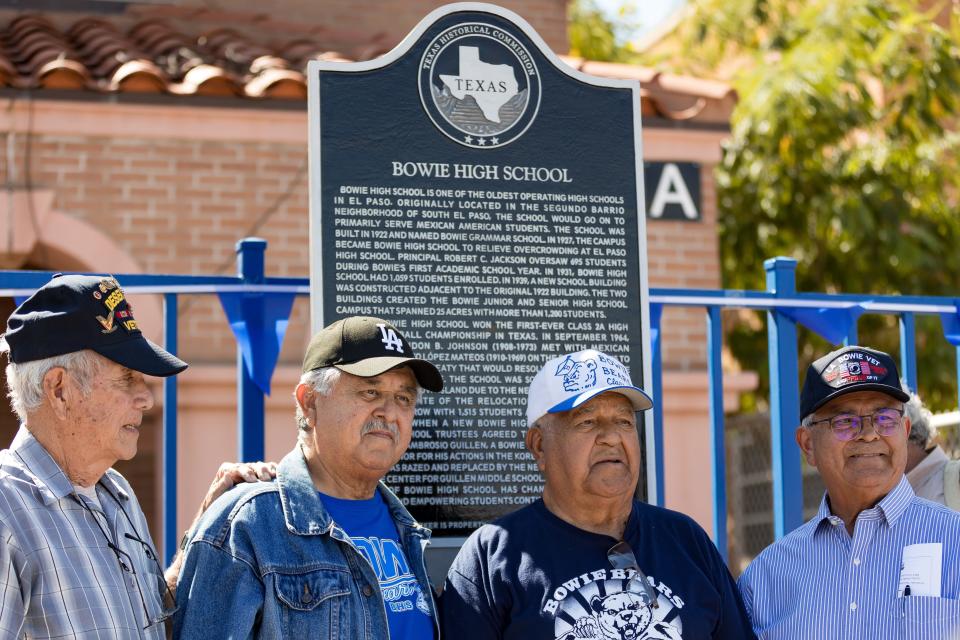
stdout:
<svg viewBox="0 0 960 640">
<path fill-rule="evenodd" d="M 844 347 L 810 365 L 796 437 L 827 491 L 740 578 L 762 640 L 960 638 L 960 514 L 904 477 L 907 400 L 886 353 Z"/>
</svg>

